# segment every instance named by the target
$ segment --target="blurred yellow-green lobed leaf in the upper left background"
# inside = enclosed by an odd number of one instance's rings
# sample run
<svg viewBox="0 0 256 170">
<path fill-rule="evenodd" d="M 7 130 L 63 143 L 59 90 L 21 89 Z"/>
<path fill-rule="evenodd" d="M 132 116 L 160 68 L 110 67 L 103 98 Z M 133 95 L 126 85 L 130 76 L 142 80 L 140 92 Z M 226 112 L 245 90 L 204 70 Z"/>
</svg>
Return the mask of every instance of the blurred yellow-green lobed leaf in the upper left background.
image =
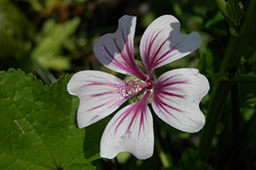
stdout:
<svg viewBox="0 0 256 170">
<path fill-rule="evenodd" d="M 70 59 L 62 57 L 62 46 L 70 51 L 75 48 L 73 41 L 69 40 L 79 26 L 79 18 L 68 20 L 58 25 L 54 20 L 46 20 L 43 26 L 43 35 L 38 37 L 38 46 L 32 50 L 32 59 L 47 69 L 63 71 L 69 68 Z"/>
</svg>

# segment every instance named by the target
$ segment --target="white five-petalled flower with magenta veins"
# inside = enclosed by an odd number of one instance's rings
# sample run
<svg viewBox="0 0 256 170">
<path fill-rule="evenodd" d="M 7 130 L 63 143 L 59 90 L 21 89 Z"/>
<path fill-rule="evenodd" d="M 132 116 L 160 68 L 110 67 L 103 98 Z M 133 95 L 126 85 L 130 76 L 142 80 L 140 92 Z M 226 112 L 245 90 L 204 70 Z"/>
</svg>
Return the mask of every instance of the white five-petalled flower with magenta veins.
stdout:
<svg viewBox="0 0 256 170">
<path fill-rule="evenodd" d="M 146 71 L 133 55 L 136 17 L 119 19 L 118 30 L 102 36 L 94 46 L 96 58 L 112 71 L 129 77 L 121 80 L 102 71 L 79 71 L 67 84 L 69 94 L 80 99 L 79 127 L 87 127 L 116 111 L 127 99 L 141 99 L 118 111 L 102 134 L 100 155 L 113 158 L 119 152 L 131 152 L 147 159 L 154 150 L 154 127 L 148 102 L 157 116 L 181 131 L 195 133 L 205 124 L 199 108 L 209 90 L 207 78 L 196 69 L 167 71 L 157 79 L 154 69 L 180 59 L 201 46 L 197 32 L 180 33 L 180 24 L 172 15 L 163 15 L 146 29 L 140 54 Z"/>
</svg>

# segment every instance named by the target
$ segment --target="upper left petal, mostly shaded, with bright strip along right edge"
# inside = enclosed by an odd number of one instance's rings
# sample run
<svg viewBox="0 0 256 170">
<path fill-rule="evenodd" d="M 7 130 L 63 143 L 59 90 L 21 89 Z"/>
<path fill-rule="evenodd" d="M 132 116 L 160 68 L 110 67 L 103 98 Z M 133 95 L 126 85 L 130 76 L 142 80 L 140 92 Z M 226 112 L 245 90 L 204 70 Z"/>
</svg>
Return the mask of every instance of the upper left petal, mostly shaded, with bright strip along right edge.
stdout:
<svg viewBox="0 0 256 170">
<path fill-rule="evenodd" d="M 146 80 L 146 75 L 133 56 L 135 26 L 136 17 L 123 16 L 119 19 L 118 30 L 102 36 L 95 43 L 93 50 L 96 58 L 108 69 Z"/>
</svg>

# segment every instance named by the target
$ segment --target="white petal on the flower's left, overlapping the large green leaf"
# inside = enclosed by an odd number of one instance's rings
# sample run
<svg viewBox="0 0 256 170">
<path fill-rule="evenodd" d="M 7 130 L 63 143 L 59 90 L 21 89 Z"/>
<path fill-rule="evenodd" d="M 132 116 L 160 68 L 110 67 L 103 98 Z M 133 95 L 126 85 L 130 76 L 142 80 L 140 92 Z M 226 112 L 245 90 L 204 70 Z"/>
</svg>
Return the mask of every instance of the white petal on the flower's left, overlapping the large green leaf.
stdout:
<svg viewBox="0 0 256 170">
<path fill-rule="evenodd" d="M 102 71 L 74 74 L 67 84 L 67 91 L 79 96 L 79 127 L 87 127 L 119 108 L 126 100 L 120 90 L 123 86 L 125 82 Z"/>
</svg>

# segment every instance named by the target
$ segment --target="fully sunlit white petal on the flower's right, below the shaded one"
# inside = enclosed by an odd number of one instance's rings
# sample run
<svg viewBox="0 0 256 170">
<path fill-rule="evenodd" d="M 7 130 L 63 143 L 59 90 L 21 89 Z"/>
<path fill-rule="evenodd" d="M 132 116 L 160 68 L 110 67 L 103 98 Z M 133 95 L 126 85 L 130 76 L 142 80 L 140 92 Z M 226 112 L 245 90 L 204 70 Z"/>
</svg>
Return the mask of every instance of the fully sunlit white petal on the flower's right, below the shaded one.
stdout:
<svg viewBox="0 0 256 170">
<path fill-rule="evenodd" d="M 205 124 L 199 103 L 208 90 L 207 78 L 196 69 L 167 71 L 155 81 L 152 107 L 167 124 L 195 133 Z"/>
</svg>

